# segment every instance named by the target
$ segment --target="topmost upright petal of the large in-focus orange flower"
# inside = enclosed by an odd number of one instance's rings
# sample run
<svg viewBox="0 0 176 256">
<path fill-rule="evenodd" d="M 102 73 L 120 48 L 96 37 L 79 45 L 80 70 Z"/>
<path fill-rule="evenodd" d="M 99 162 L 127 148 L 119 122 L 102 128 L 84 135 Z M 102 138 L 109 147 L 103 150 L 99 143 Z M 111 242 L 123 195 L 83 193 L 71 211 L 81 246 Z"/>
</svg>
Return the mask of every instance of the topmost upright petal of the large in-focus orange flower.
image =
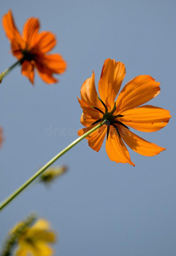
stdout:
<svg viewBox="0 0 176 256">
<path fill-rule="evenodd" d="M 125 65 L 122 62 L 111 59 L 105 60 L 99 79 L 99 95 L 109 108 L 114 107 L 114 100 L 121 88 L 125 73 Z M 108 96 L 109 100 L 106 102 Z"/>
</svg>

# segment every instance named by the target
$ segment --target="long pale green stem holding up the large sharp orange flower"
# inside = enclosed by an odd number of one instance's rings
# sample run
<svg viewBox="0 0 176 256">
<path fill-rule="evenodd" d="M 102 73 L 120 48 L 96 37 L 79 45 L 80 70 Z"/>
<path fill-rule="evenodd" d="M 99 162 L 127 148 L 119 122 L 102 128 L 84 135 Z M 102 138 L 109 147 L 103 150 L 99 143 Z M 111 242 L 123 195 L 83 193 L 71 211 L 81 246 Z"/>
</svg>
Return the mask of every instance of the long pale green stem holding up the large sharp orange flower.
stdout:
<svg viewBox="0 0 176 256">
<path fill-rule="evenodd" d="M 69 151 L 71 148 L 73 148 L 75 145 L 77 145 L 77 143 L 81 142 L 83 138 L 88 137 L 89 134 L 91 134 L 92 132 L 96 131 L 97 129 L 99 129 L 100 126 L 105 124 L 105 120 L 100 123 L 99 125 L 94 126 L 94 128 L 92 128 L 90 131 L 87 131 L 86 133 L 84 133 L 81 137 L 78 137 L 74 142 L 72 142 L 70 145 L 68 145 L 66 148 L 64 148 L 63 150 L 60 151 L 59 154 L 56 154 L 54 156 L 54 158 L 52 158 L 51 160 L 48 161 L 48 163 L 46 165 L 44 165 L 40 170 L 38 170 L 32 177 L 30 177 L 26 183 L 23 183 L 19 189 L 16 189 L 14 191 L 13 194 L 9 195 L 9 197 L 4 200 L 1 204 L 0 204 L 0 211 L 6 207 L 10 201 L 13 201 L 14 198 L 17 195 L 20 195 L 20 193 L 26 189 L 40 174 L 42 174 L 49 166 L 51 166 L 56 160 L 58 160 L 60 158 L 60 156 L 62 156 L 63 154 L 65 154 L 67 151 Z"/>
</svg>

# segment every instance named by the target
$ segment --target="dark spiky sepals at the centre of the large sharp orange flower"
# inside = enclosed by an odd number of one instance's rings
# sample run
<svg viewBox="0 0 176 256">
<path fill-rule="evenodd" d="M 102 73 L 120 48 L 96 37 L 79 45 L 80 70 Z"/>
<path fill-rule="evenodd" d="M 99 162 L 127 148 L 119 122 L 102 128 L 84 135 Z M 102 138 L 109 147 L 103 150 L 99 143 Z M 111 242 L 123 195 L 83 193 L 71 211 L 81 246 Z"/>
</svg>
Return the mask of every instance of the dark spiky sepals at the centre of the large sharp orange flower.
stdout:
<svg viewBox="0 0 176 256">
<path fill-rule="evenodd" d="M 117 115 L 114 115 L 113 113 L 116 111 L 116 102 L 114 103 L 114 107 L 112 108 L 111 112 L 108 112 L 108 108 L 107 106 L 105 105 L 105 102 L 103 102 L 100 98 L 99 98 L 99 101 L 102 103 L 102 105 L 104 106 L 105 108 L 105 112 L 103 112 L 101 109 L 99 108 L 96 108 L 96 107 L 93 107 L 94 109 L 98 110 L 100 113 L 103 114 L 103 117 L 102 119 L 98 119 L 96 120 L 92 125 L 96 125 L 96 124 L 99 124 L 100 122 L 102 121 L 105 121 L 105 125 L 107 126 L 107 139 L 108 139 L 108 136 L 109 136 L 109 131 L 110 131 L 110 125 L 112 125 L 118 136 L 121 137 L 120 135 L 120 131 L 117 127 L 117 125 L 122 125 L 123 127 L 125 127 L 126 129 L 129 129 L 127 125 L 124 125 L 121 121 L 118 120 L 118 118 L 122 117 L 123 115 L 122 114 L 117 114 Z"/>
</svg>

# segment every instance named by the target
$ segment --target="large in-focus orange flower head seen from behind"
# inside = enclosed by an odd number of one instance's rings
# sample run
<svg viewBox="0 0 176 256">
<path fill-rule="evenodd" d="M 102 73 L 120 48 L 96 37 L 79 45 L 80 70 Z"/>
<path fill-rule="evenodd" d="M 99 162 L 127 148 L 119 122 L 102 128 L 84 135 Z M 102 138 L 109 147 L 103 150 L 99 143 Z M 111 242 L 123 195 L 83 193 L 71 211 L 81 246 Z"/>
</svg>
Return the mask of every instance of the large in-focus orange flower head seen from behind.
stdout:
<svg viewBox="0 0 176 256">
<path fill-rule="evenodd" d="M 105 125 L 87 137 L 88 145 L 98 152 L 106 135 L 105 148 L 109 158 L 116 163 L 134 166 L 125 143 L 133 151 L 146 156 L 159 154 L 165 148 L 145 141 L 128 126 L 138 131 L 158 131 L 167 125 L 171 115 L 163 108 L 141 106 L 160 93 L 160 83 L 149 75 L 140 75 L 129 81 L 116 99 L 125 73 L 122 62 L 107 59 L 99 79 L 100 97 L 95 89 L 94 72 L 82 84 L 81 100 L 78 98 L 78 101 L 83 111 L 81 123 L 87 128 L 78 131 L 78 135 L 105 120 Z"/>
</svg>

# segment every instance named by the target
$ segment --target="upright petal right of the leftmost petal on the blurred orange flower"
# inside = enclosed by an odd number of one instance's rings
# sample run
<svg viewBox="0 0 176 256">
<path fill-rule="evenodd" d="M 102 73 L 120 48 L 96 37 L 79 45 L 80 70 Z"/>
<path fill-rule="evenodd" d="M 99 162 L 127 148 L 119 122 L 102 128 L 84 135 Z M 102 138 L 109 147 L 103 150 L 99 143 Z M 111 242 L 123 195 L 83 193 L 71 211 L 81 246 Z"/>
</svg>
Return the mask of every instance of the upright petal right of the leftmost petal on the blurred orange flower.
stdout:
<svg viewBox="0 0 176 256">
<path fill-rule="evenodd" d="M 30 48 L 36 43 L 39 27 L 39 20 L 36 18 L 30 18 L 26 21 L 23 28 L 23 38 Z"/>
</svg>

